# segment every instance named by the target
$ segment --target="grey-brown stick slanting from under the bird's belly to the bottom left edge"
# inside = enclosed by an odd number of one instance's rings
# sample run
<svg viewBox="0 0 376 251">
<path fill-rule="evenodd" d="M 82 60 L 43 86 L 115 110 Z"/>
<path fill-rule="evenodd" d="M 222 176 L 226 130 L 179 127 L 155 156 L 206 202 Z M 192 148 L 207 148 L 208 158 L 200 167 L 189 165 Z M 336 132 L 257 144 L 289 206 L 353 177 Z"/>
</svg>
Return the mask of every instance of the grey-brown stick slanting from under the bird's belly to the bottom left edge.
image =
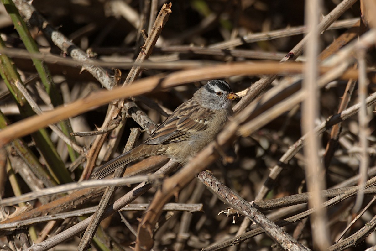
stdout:
<svg viewBox="0 0 376 251">
<path fill-rule="evenodd" d="M 176 169 L 176 163 L 172 161 L 168 162 L 165 166 L 155 172 L 155 174 L 169 174 L 170 172 Z M 147 192 L 152 187 L 152 183 L 150 182 L 143 182 L 129 191 L 126 195 L 115 201 L 115 203 L 111 204 L 108 209 L 106 209 L 104 217 L 108 217 L 118 210 L 120 210 L 125 205 L 129 204 L 133 200 L 135 200 L 140 195 Z M 59 243 L 64 242 L 65 240 L 71 239 L 72 237 L 76 236 L 77 234 L 81 233 L 85 230 L 88 226 L 89 222 L 91 221 L 92 216 L 86 218 L 85 220 L 73 225 L 72 227 L 68 228 L 65 231 L 62 231 L 59 234 L 56 234 L 50 239 L 45 240 L 44 242 L 34 244 L 29 249 L 25 251 L 45 251 L 48 249 L 53 248 L 54 246 L 58 245 Z"/>
</svg>

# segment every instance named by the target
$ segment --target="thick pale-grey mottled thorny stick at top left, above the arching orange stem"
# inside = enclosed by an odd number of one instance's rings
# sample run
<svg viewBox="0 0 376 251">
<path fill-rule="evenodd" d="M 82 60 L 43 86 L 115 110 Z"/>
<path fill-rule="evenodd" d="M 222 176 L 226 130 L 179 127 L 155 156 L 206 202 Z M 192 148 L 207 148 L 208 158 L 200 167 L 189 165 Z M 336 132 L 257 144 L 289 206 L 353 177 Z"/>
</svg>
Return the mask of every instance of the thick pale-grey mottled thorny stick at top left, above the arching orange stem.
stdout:
<svg viewBox="0 0 376 251">
<path fill-rule="evenodd" d="M 89 71 L 103 86 L 111 89 L 115 81 L 106 70 L 92 64 L 88 55 L 65 37 L 61 32 L 55 30 L 35 9 L 24 0 L 14 0 L 17 9 L 24 15 L 25 22 L 38 27 L 44 35 L 51 39 L 64 53 L 68 53 L 73 59 L 83 62 L 83 68 Z"/>
</svg>

